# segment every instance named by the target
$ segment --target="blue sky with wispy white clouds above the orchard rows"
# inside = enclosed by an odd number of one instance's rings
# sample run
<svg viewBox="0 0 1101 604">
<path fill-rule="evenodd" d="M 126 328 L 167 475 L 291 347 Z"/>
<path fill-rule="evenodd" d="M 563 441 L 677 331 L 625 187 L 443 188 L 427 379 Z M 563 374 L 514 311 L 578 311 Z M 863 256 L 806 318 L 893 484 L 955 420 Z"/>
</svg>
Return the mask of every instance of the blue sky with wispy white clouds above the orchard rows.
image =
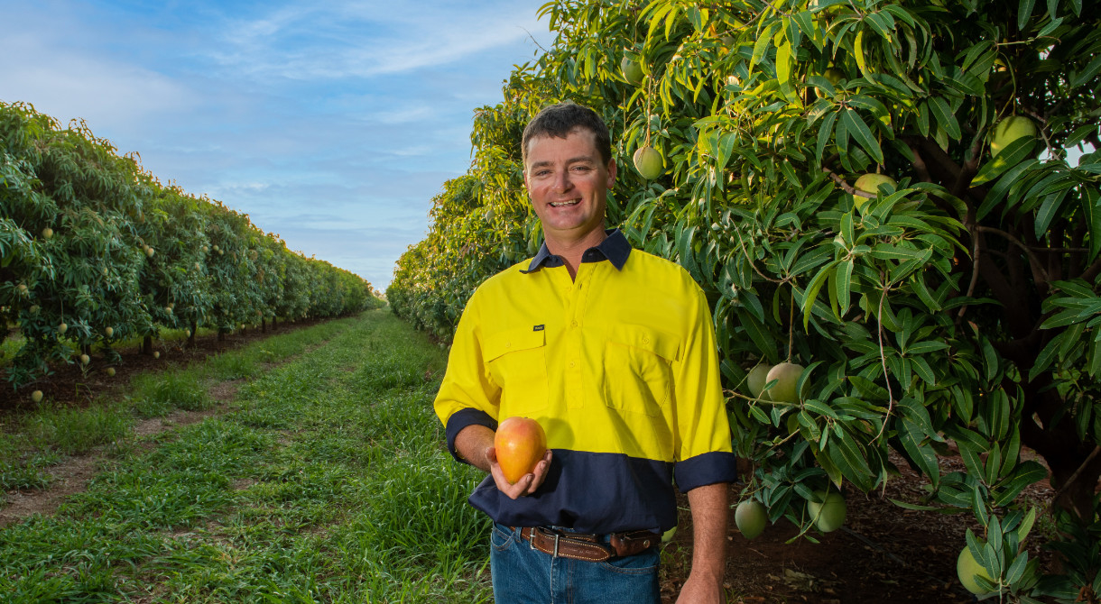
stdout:
<svg viewBox="0 0 1101 604">
<path fill-rule="evenodd" d="M 0 100 L 385 288 L 544 1 L 7 0 Z"/>
</svg>

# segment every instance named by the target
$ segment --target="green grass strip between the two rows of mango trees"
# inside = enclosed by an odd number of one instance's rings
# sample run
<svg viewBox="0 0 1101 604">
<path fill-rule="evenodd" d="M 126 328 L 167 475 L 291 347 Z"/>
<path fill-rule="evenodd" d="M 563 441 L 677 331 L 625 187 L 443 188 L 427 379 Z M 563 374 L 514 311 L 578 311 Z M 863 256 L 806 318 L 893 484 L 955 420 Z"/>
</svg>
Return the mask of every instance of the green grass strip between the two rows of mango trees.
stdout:
<svg viewBox="0 0 1101 604">
<path fill-rule="evenodd" d="M 209 408 L 211 383 L 242 382 L 201 422 L 113 437 L 86 491 L 52 517 L 0 529 L 0 593 L 10 602 L 491 602 L 488 520 L 466 503 L 481 475 L 443 447 L 432 411 L 438 382 L 425 378 L 445 363 L 375 310 L 135 380 L 124 400 L 103 407 L 121 426 Z M 0 443 L 4 459 L 24 460 L 10 472 L 0 464 L 4 481 L 33 483 L 15 469 L 48 472 L 68 450 L 46 417 L 39 436 Z M 70 419 L 88 427 L 78 432 L 119 429 L 90 429 L 101 421 Z"/>
</svg>

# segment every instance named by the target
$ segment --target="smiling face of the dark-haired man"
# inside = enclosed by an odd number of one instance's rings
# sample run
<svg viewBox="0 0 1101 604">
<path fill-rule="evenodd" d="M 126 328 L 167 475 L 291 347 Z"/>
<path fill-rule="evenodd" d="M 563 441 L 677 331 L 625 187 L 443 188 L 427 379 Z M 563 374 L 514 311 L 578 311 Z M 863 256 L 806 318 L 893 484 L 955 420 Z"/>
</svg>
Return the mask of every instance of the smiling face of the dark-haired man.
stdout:
<svg viewBox="0 0 1101 604">
<path fill-rule="evenodd" d="M 577 240 L 603 229 L 615 162 L 601 162 L 595 139 L 590 130 L 576 128 L 565 139 L 527 142 L 524 185 L 543 232 L 552 239 Z"/>
</svg>

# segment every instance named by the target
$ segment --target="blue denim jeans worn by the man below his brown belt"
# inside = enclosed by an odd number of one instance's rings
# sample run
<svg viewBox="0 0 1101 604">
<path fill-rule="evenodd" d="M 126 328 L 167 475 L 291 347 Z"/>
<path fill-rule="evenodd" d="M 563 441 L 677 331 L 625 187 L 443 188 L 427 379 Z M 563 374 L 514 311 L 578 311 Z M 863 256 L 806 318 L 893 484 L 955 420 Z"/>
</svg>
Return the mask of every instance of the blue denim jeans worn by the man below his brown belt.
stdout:
<svg viewBox="0 0 1101 604">
<path fill-rule="evenodd" d="M 555 558 L 520 529 L 493 523 L 490 572 L 498 604 L 657 604 L 658 548 L 603 562 Z"/>
</svg>

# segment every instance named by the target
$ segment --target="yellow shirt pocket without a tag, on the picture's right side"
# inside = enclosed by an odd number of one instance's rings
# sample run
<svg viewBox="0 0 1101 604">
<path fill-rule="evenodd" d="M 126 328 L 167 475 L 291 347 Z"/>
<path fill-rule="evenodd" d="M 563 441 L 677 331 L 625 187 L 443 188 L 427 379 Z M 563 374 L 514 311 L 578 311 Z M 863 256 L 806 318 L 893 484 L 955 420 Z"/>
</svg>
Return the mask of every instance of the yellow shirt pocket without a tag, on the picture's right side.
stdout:
<svg viewBox="0 0 1101 604">
<path fill-rule="evenodd" d="M 642 326 L 614 326 L 604 343 L 604 404 L 615 409 L 662 415 L 673 393 L 677 340 Z"/>
</svg>

